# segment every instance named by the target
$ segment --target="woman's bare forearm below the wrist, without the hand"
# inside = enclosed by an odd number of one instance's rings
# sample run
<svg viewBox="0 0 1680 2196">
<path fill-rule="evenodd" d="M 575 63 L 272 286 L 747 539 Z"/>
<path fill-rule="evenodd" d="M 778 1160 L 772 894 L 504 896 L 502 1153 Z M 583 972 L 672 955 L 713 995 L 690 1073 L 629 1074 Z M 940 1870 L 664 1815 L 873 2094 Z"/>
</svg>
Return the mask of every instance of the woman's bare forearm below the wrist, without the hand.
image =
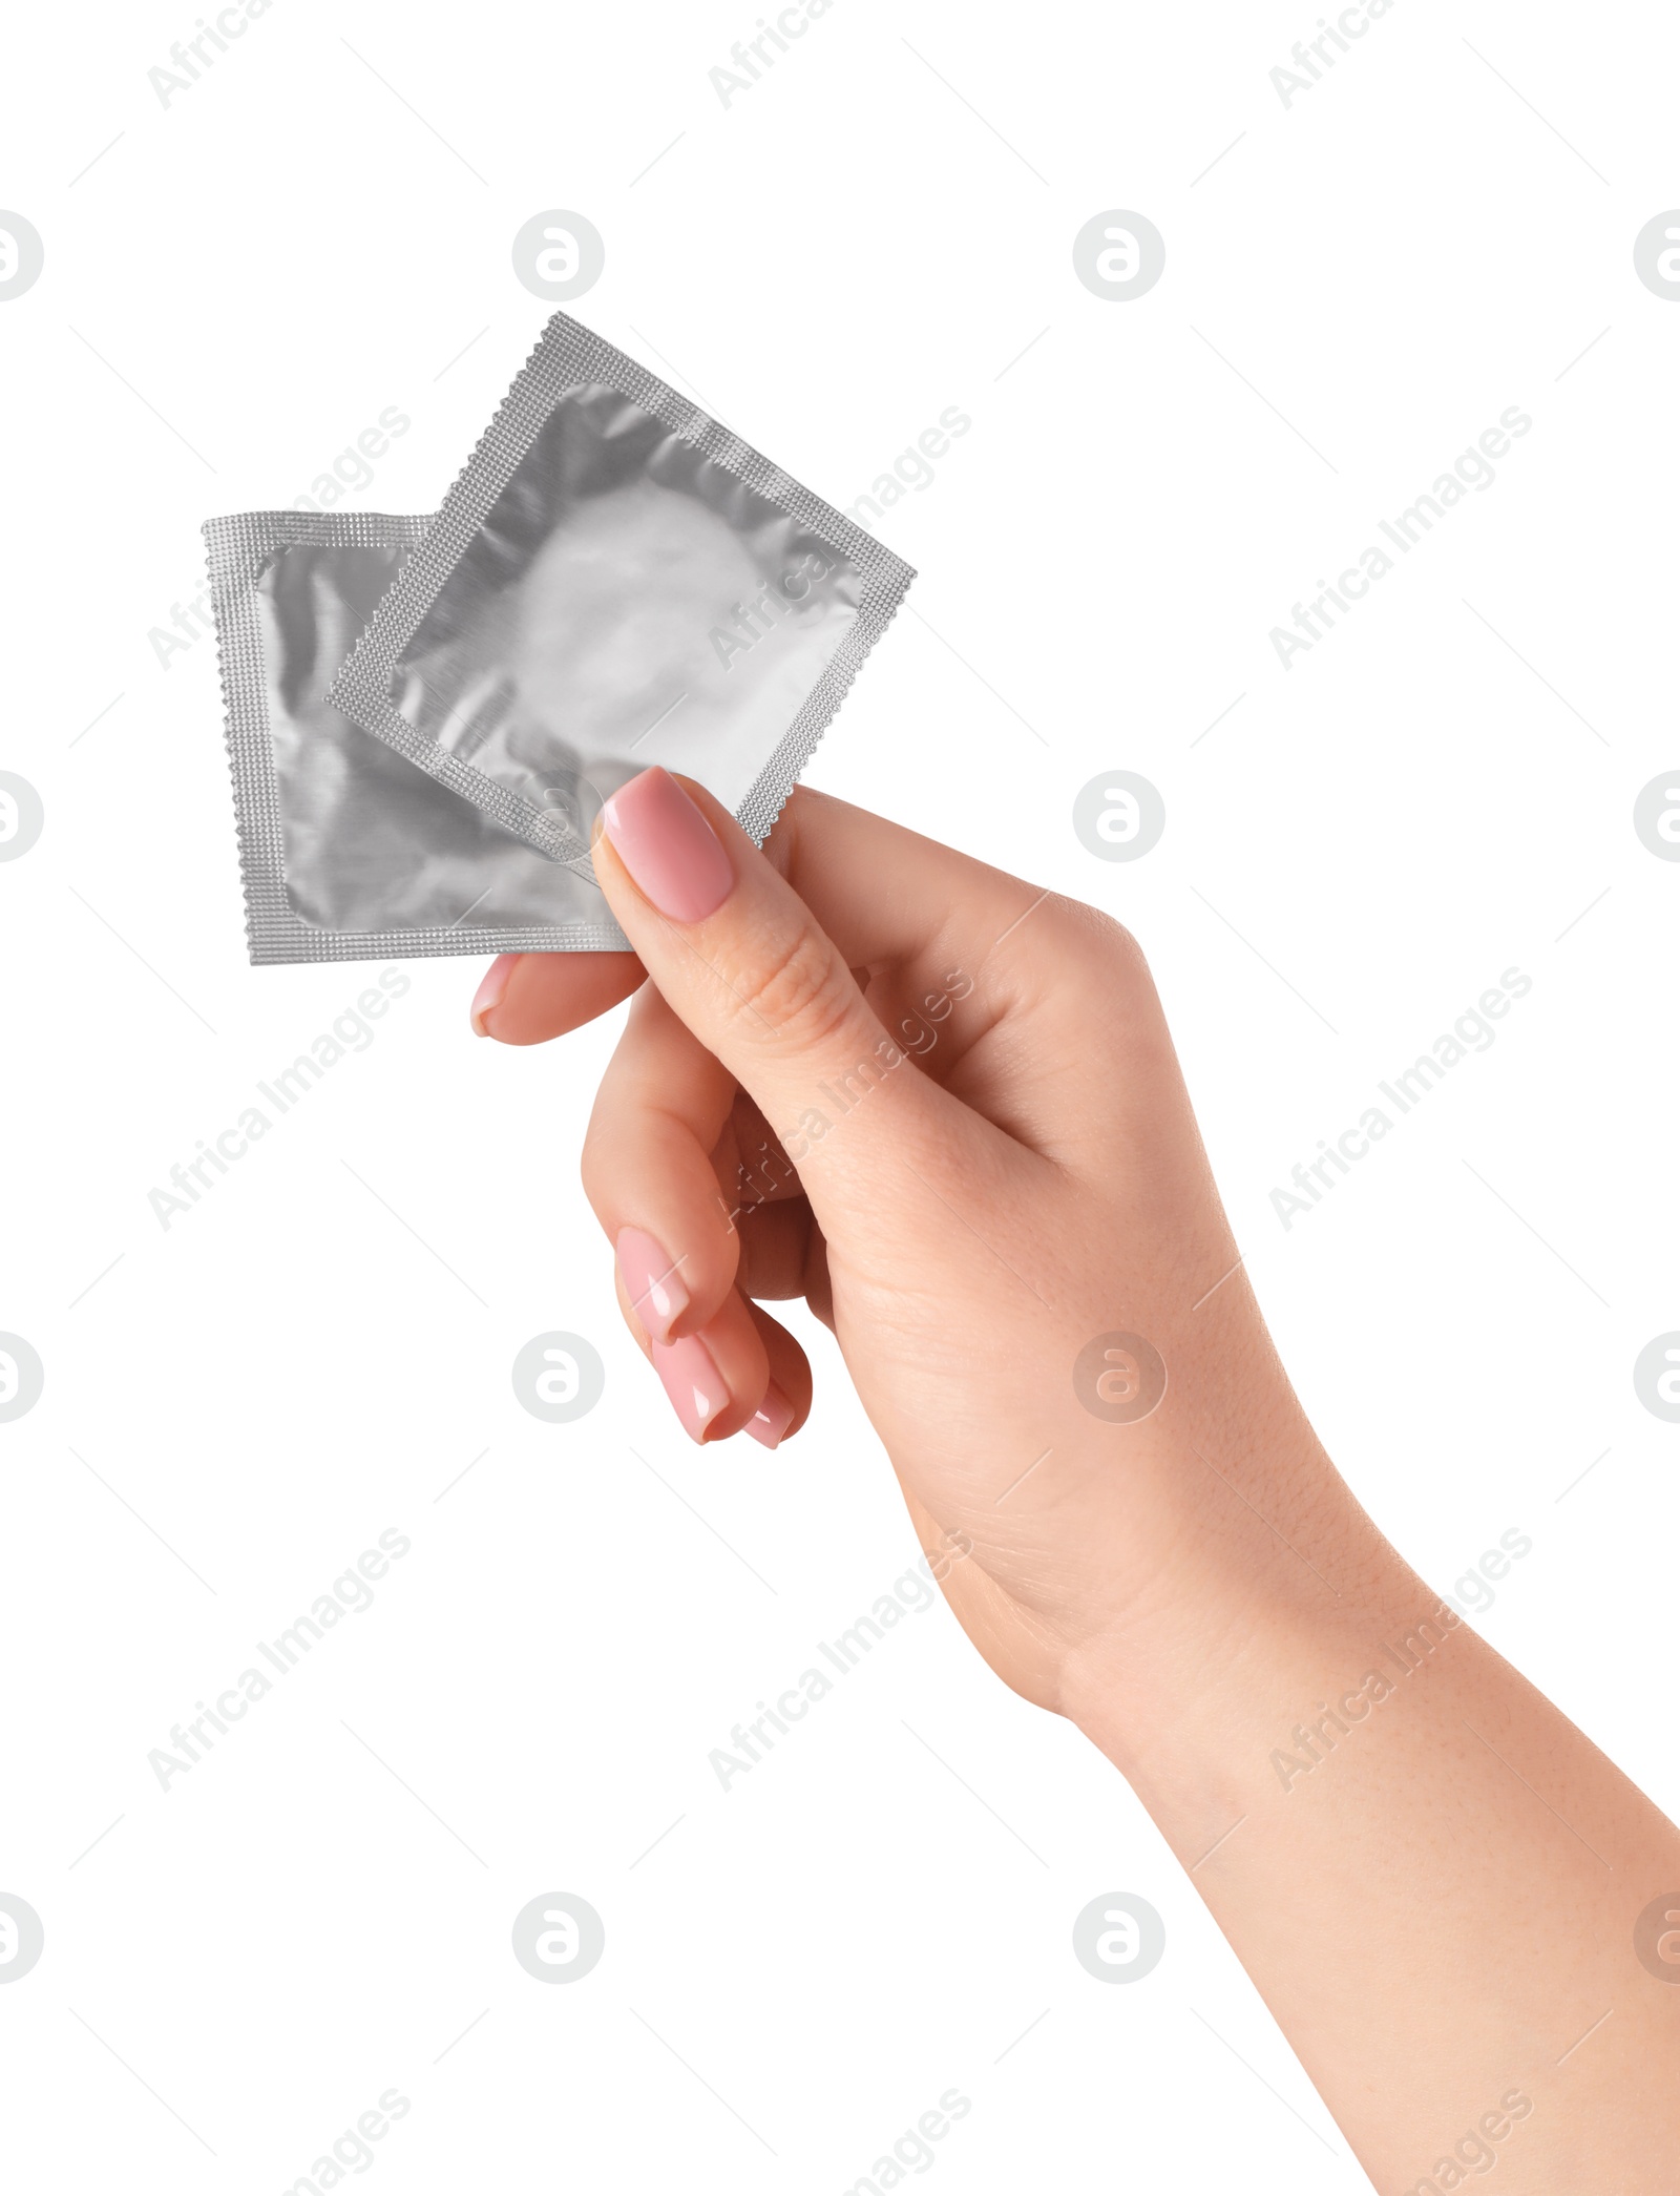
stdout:
<svg viewBox="0 0 1680 2196">
<path fill-rule="evenodd" d="M 1680 2187 L 1680 1834 L 1329 1467 L 1274 1524 L 1179 1572 L 1076 1719 L 1377 2187 Z"/>
</svg>

